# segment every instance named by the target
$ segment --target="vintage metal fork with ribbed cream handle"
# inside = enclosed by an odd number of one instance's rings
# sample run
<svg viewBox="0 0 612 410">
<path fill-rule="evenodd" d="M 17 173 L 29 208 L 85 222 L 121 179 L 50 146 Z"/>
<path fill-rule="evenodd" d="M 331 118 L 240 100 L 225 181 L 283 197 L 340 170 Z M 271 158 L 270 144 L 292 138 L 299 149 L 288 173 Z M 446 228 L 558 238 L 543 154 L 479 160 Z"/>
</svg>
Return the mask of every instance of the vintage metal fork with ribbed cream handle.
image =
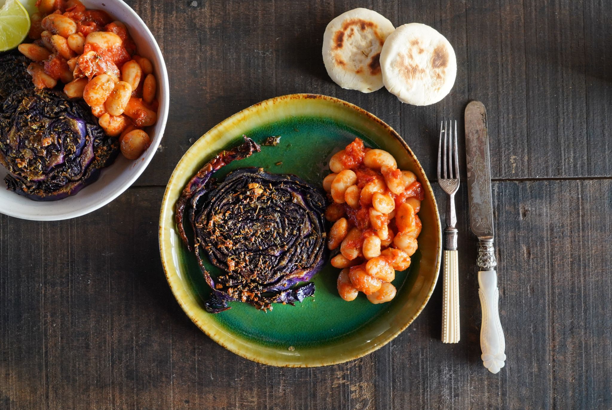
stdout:
<svg viewBox="0 0 612 410">
<path fill-rule="evenodd" d="M 444 126 L 444 128 L 442 128 Z M 457 121 L 442 121 L 438 144 L 438 183 L 449 194 L 446 202 L 444 229 L 444 295 L 442 296 L 442 342 L 459 342 L 459 264 L 457 260 L 457 214 L 455 192 L 459 189 L 459 157 L 457 155 Z M 444 136 L 444 142 L 442 142 Z M 448 148 L 448 150 L 447 150 Z M 443 150 L 443 152 L 442 152 Z M 448 160 L 448 161 L 447 161 Z"/>
</svg>

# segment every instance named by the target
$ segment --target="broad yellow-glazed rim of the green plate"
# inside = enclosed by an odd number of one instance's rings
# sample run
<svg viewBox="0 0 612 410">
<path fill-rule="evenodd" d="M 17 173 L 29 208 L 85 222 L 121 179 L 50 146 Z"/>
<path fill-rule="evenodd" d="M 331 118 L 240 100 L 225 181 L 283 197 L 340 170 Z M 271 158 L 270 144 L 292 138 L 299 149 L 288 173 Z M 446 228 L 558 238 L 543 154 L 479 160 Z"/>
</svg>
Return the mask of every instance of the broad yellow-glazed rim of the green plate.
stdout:
<svg viewBox="0 0 612 410">
<path fill-rule="evenodd" d="M 340 112 L 345 112 L 348 108 L 349 110 L 357 112 L 357 114 L 362 115 L 366 119 L 370 120 L 371 126 L 383 128 L 389 136 L 393 137 L 397 142 L 401 144 L 403 148 L 405 148 L 408 156 L 414 162 L 414 165 L 417 168 L 417 172 L 420 175 L 420 180 L 424 182 L 423 186 L 425 187 L 426 198 L 431 200 L 431 205 L 433 205 L 433 213 L 436 221 L 436 232 L 437 240 L 436 240 L 436 258 L 435 258 L 435 273 L 433 276 L 433 280 L 430 283 L 430 288 L 427 292 L 427 296 L 422 304 L 417 309 L 416 313 L 411 315 L 409 318 L 403 318 L 404 320 L 395 320 L 394 325 L 395 329 L 392 332 L 384 332 L 379 335 L 375 340 L 368 340 L 365 343 L 365 346 L 359 349 L 359 345 L 351 346 L 354 348 L 353 351 L 347 352 L 349 354 L 338 354 L 337 350 L 341 347 L 338 345 L 332 345 L 324 348 L 315 348 L 317 353 L 316 357 L 304 357 L 300 352 L 297 351 L 279 351 L 275 348 L 266 348 L 265 346 L 253 345 L 252 343 L 239 339 L 237 337 L 233 337 L 228 334 L 222 326 L 218 326 L 212 318 L 209 318 L 211 313 L 207 313 L 203 307 L 200 306 L 200 303 L 195 298 L 192 293 L 190 293 L 187 289 L 185 289 L 181 272 L 174 269 L 174 266 L 179 266 L 178 261 L 175 259 L 173 255 L 172 249 L 175 246 L 181 246 L 181 240 L 177 236 L 177 232 L 175 229 L 174 222 L 174 203 L 178 199 L 182 189 L 188 180 L 200 169 L 201 166 L 205 163 L 205 159 L 207 160 L 207 155 L 211 152 L 220 152 L 226 144 L 226 141 L 223 139 L 223 136 L 230 133 L 232 136 L 236 136 L 237 131 L 235 128 L 239 126 L 242 122 L 248 120 L 248 128 L 256 128 L 258 126 L 264 125 L 266 123 L 271 122 L 272 120 L 278 120 L 278 117 L 275 117 L 274 108 L 275 105 L 280 105 L 283 103 L 289 103 L 290 101 L 300 100 L 300 101 L 316 101 L 317 103 L 326 102 L 331 103 L 328 107 L 331 111 L 334 109 L 338 110 L 338 114 Z M 335 108 L 334 108 L 335 106 Z M 291 111 L 291 107 L 285 107 L 288 111 Z M 292 115 L 324 115 L 334 118 L 331 114 L 331 111 L 326 111 L 321 113 L 317 111 L 316 108 L 320 108 L 318 106 L 313 106 L 315 111 L 307 112 L 304 109 L 304 106 L 294 107 L 297 108 Z M 361 124 L 363 127 L 363 124 Z M 202 153 L 206 152 L 206 155 Z M 398 161 L 399 162 L 399 161 Z M 188 166 L 190 165 L 190 166 Z M 184 169 L 185 168 L 185 169 Z M 188 170 L 190 169 L 190 170 Z M 176 298 L 179 305 L 187 314 L 187 316 L 193 321 L 193 323 L 200 328 L 201 331 L 204 332 L 208 337 L 217 342 L 219 345 L 223 346 L 227 350 L 244 357 L 245 359 L 249 359 L 254 362 L 258 362 L 261 364 L 267 364 L 277 367 L 317 367 L 317 366 L 325 366 L 343 363 L 346 361 L 350 361 L 353 359 L 358 359 L 359 357 L 363 357 L 366 354 L 369 354 L 375 350 L 378 350 L 382 346 L 389 343 L 391 340 L 395 339 L 398 334 L 404 331 L 408 326 L 416 319 L 416 317 L 422 312 L 425 305 L 429 301 L 431 297 L 431 293 L 435 289 L 436 282 L 438 280 L 439 268 L 441 263 L 441 249 L 442 249 L 442 235 L 441 235 L 441 224 L 438 213 L 438 205 L 436 204 L 435 196 L 433 194 L 433 190 L 431 189 L 431 185 L 423 168 L 421 167 L 418 159 L 412 153 L 412 150 L 408 147 L 408 144 L 400 137 L 400 135 L 393 130 L 389 125 L 383 122 L 381 119 L 371 114 L 368 111 L 365 111 L 358 106 L 348 103 L 347 101 L 340 100 L 338 98 L 329 97 L 327 95 L 319 95 L 319 94 L 308 94 L 308 93 L 300 93 L 300 94 L 290 94 L 283 95 L 280 97 L 271 98 L 269 100 L 261 101 L 260 103 L 254 104 L 248 108 L 243 109 L 240 112 L 228 117 L 222 122 L 215 125 L 211 130 L 209 130 L 206 134 L 200 137 L 198 141 L 196 141 L 185 154 L 182 156 L 179 163 L 173 170 L 173 173 L 168 181 L 168 185 L 166 186 L 166 190 L 163 194 L 162 200 L 162 210 L 160 213 L 159 220 L 159 246 L 160 246 L 160 255 L 162 258 L 162 265 L 164 272 L 166 274 L 166 279 L 168 280 L 168 285 L 170 285 L 170 289 Z M 308 351 L 308 350 L 305 350 Z M 312 351 L 310 351 L 312 353 Z"/>
</svg>

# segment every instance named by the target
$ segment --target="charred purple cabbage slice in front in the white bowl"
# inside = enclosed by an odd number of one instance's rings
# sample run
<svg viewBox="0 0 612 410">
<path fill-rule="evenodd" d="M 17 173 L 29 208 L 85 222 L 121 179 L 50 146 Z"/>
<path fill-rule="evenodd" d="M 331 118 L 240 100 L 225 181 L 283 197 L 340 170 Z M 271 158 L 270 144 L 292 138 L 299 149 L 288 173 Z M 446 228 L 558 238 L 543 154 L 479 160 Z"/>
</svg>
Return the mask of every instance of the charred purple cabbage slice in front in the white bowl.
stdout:
<svg viewBox="0 0 612 410">
<path fill-rule="evenodd" d="M 0 164 L 7 188 L 34 200 L 76 194 L 99 177 L 118 153 L 81 101 L 61 92 L 23 90 L 9 95 L 0 112 Z"/>
</svg>

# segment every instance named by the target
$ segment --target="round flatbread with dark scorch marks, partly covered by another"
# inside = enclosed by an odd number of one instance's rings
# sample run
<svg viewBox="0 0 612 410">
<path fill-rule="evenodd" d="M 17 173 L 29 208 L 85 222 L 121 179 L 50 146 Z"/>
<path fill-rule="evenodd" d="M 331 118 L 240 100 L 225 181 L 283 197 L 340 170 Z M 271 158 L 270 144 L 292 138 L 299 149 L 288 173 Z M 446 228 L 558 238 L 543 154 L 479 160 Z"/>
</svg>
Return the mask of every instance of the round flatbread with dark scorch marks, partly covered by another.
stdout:
<svg viewBox="0 0 612 410">
<path fill-rule="evenodd" d="M 334 18 L 323 35 L 323 62 L 338 86 L 361 92 L 383 87 L 378 62 L 393 24 L 373 10 L 354 9 Z"/>
</svg>

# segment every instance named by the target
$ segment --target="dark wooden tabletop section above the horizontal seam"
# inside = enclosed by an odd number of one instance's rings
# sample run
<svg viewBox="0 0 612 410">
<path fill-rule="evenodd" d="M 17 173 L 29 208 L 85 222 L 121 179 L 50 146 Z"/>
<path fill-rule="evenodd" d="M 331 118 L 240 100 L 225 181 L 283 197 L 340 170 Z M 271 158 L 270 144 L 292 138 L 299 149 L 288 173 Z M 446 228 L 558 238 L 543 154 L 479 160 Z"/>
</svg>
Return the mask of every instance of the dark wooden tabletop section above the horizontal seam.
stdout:
<svg viewBox="0 0 612 410">
<path fill-rule="evenodd" d="M 471 99 L 482 100 L 490 114 L 494 178 L 612 174 L 606 137 L 612 131 L 606 52 L 612 40 L 605 35 L 611 12 L 600 2 L 129 4 L 159 40 L 171 85 L 162 148 L 138 185 L 165 185 L 190 141 L 234 112 L 295 92 L 332 95 L 378 115 L 405 137 L 431 177 L 439 120 L 463 126 Z M 449 38 L 458 72 L 441 103 L 409 106 L 384 89 L 363 94 L 330 81 L 321 59 L 324 29 L 334 16 L 364 6 L 396 26 L 417 21 Z"/>
</svg>

